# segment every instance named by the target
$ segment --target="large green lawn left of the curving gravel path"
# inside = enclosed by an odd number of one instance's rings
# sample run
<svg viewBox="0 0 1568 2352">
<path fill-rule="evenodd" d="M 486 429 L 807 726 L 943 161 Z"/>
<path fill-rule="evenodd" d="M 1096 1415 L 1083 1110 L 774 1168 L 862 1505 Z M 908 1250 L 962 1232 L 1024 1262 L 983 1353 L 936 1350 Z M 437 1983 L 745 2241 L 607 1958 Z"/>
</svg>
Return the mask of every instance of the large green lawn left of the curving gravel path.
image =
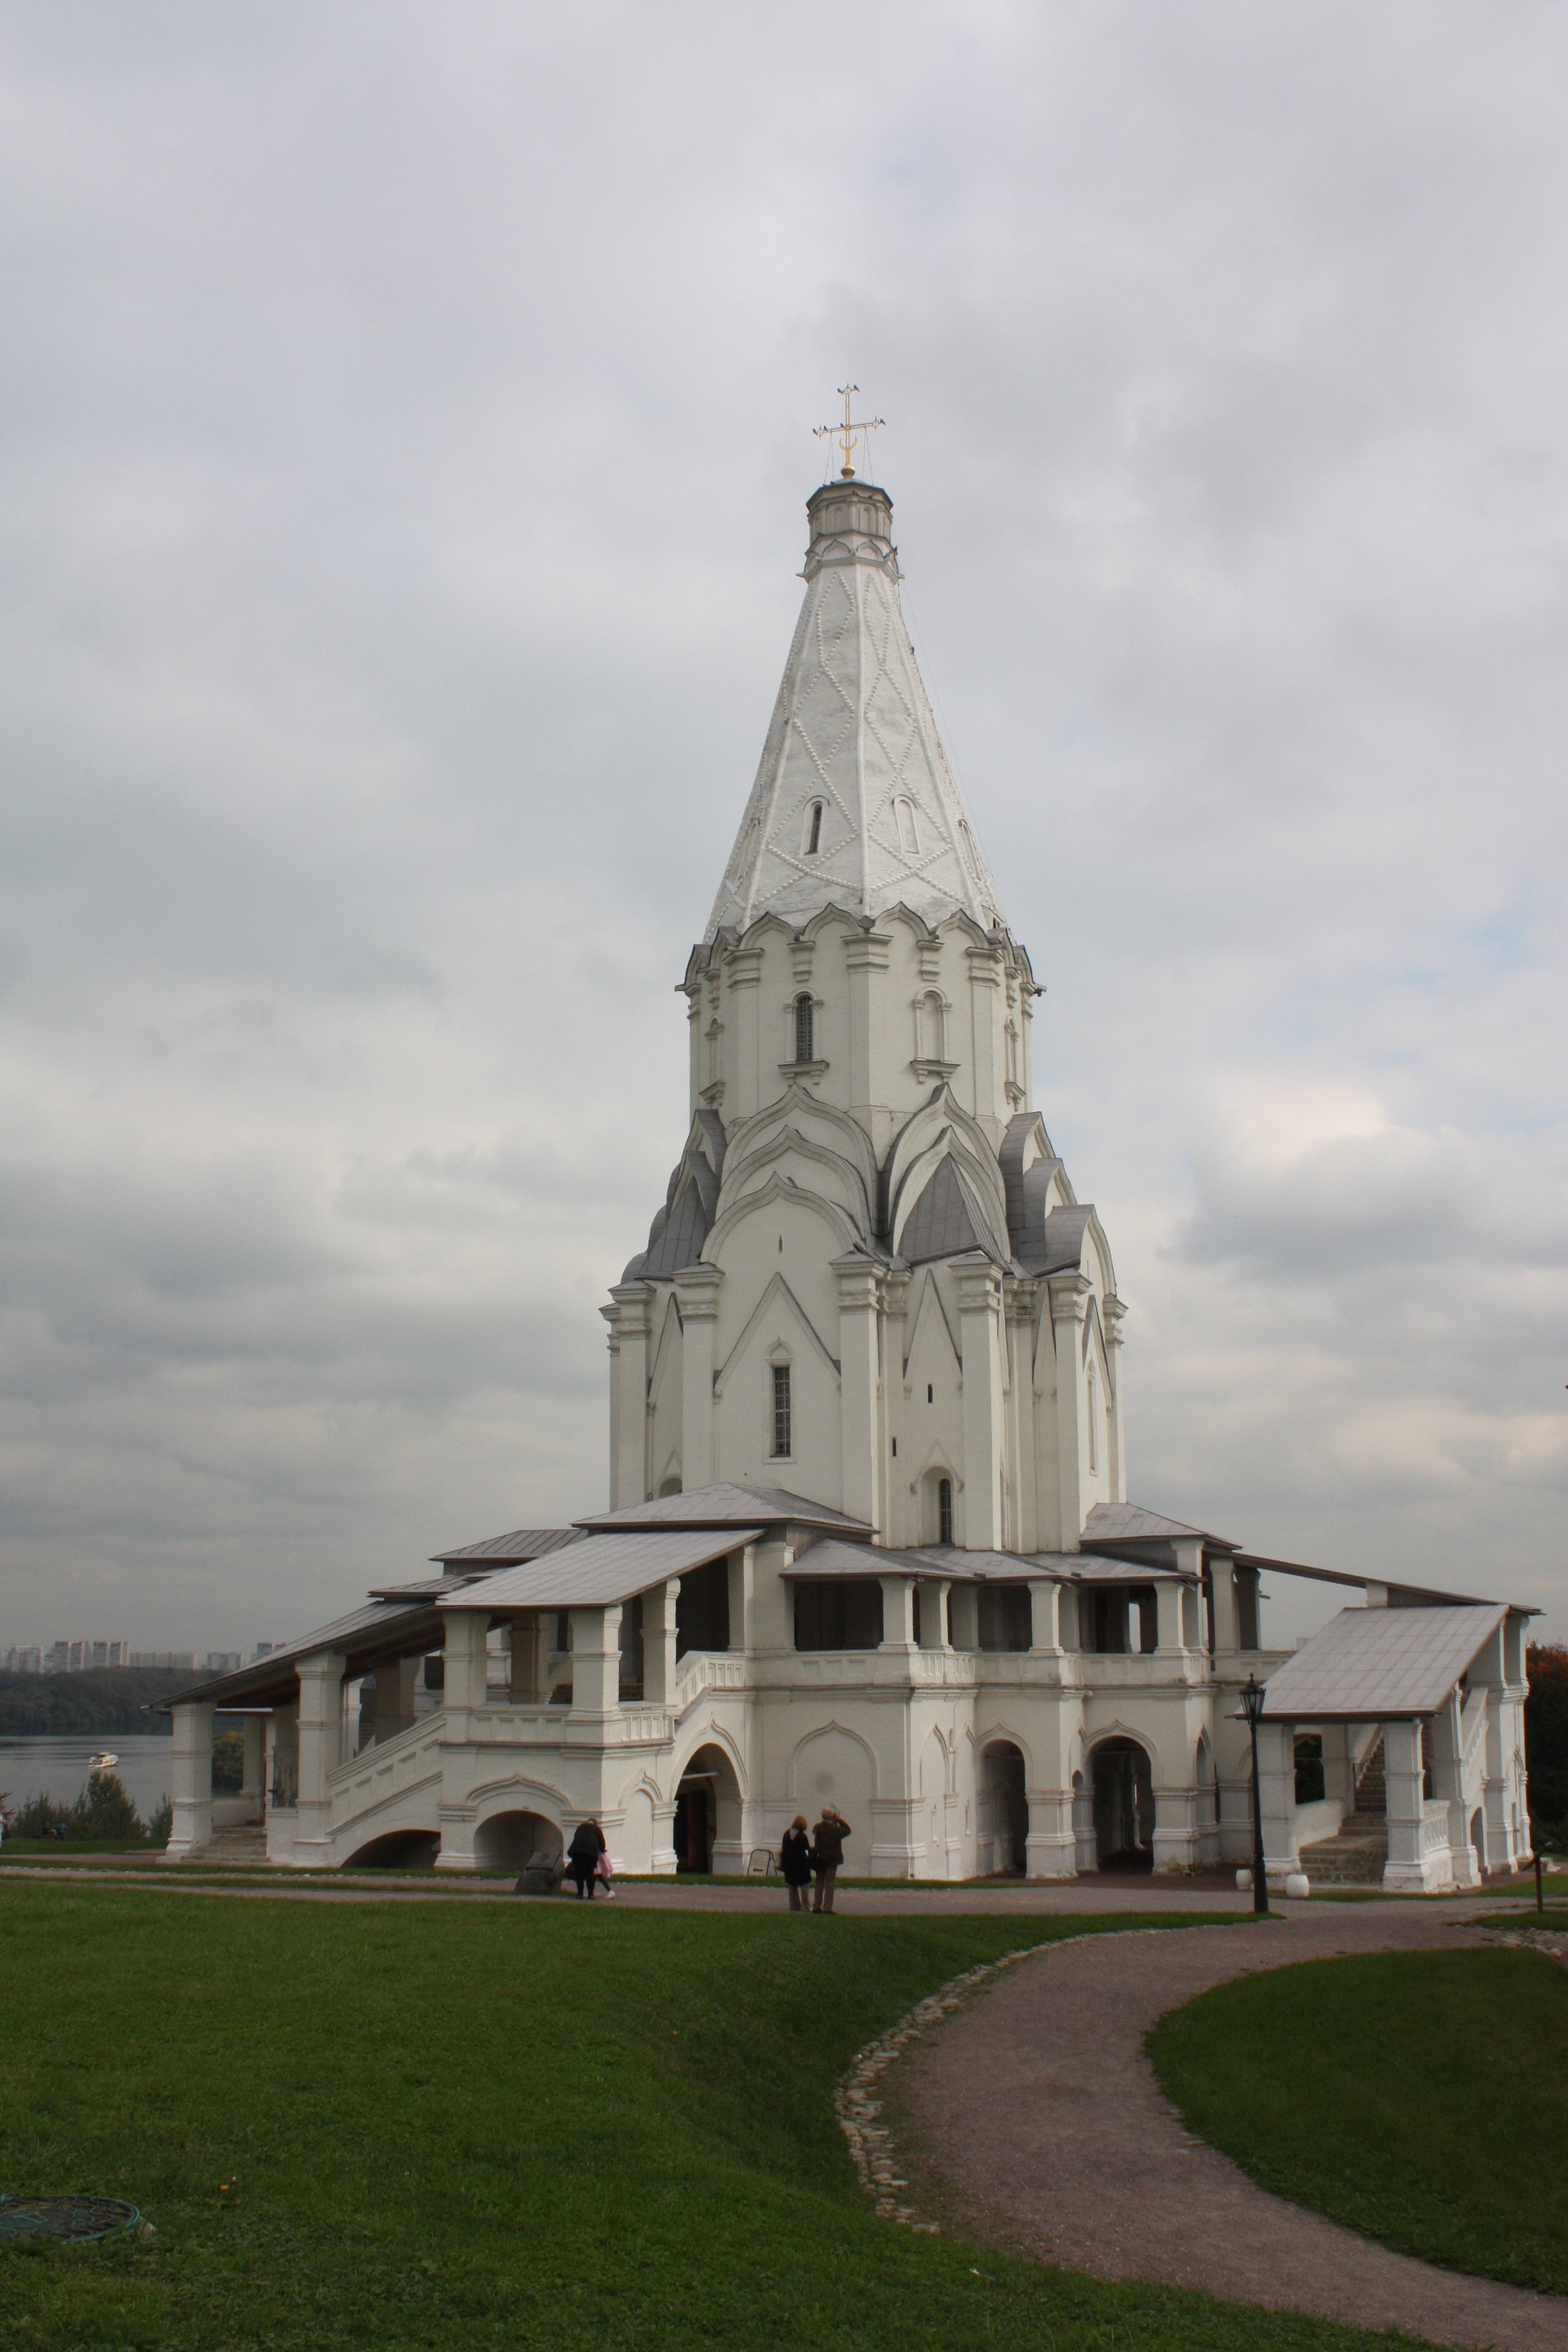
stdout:
<svg viewBox="0 0 1568 2352">
<path fill-rule="evenodd" d="M 877 2220 L 830 2105 L 851 2053 L 1020 1933 L 1084 1924 L 310 1905 L 12 1879 L 0 2185 L 129 2197 L 158 2234 L 0 2256 L 5 2343 L 1385 2343 Z"/>
</svg>

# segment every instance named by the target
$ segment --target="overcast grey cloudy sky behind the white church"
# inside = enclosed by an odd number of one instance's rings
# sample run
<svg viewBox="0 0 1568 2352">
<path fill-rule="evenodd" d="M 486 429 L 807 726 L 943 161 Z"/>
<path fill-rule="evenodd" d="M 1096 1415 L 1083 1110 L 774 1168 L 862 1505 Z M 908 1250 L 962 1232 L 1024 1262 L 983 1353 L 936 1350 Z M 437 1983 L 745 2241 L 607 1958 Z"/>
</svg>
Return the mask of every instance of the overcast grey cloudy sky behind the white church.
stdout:
<svg viewBox="0 0 1568 2352">
<path fill-rule="evenodd" d="M 0 1642 L 604 1505 L 846 376 L 1131 1494 L 1568 1635 L 1566 94 L 1556 0 L 9 0 Z"/>
</svg>

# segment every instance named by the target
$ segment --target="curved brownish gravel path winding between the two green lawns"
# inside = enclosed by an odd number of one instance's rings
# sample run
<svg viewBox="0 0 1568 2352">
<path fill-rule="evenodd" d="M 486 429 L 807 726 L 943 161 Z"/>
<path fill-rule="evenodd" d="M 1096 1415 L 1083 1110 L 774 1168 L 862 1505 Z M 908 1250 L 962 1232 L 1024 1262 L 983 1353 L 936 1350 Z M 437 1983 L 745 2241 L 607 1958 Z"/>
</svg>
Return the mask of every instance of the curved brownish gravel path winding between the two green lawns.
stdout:
<svg viewBox="0 0 1568 2352">
<path fill-rule="evenodd" d="M 1159 2279 L 1434 2345 L 1568 2352 L 1568 2296 L 1436 2270 L 1255 2187 L 1192 2140 L 1143 2037 L 1255 1969 L 1465 1950 L 1474 1905 L 1291 1907 L 1274 1926 L 1095 1936 L 1009 1969 L 903 2070 L 910 2190 L 966 2234 L 1103 2279 Z M 1502 1922 L 1500 1922 L 1502 1924 Z"/>
</svg>

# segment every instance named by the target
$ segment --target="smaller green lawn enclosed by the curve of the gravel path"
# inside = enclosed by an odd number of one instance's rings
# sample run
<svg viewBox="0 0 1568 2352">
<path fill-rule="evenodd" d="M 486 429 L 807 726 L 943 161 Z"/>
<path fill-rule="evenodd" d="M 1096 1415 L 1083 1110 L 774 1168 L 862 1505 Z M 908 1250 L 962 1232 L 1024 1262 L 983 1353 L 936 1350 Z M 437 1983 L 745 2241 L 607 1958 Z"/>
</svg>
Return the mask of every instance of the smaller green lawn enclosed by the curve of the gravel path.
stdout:
<svg viewBox="0 0 1568 2352">
<path fill-rule="evenodd" d="M 1568 2293 L 1561 1962 L 1302 1962 L 1161 2018 L 1150 2056 L 1192 2131 L 1281 2197 L 1429 2263 Z"/>
</svg>

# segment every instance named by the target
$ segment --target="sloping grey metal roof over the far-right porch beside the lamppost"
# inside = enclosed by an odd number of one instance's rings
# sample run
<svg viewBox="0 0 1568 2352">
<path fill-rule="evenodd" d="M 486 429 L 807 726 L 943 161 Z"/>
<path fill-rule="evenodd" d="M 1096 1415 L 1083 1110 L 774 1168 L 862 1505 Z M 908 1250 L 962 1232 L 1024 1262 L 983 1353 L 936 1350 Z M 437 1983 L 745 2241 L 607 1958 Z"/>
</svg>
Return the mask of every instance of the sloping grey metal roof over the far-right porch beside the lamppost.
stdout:
<svg viewBox="0 0 1568 2352">
<path fill-rule="evenodd" d="M 1265 1717 L 1378 1724 L 1434 1715 L 1507 1616 L 1469 1609 L 1340 1609 L 1293 1658 L 1274 1668 Z"/>
</svg>

